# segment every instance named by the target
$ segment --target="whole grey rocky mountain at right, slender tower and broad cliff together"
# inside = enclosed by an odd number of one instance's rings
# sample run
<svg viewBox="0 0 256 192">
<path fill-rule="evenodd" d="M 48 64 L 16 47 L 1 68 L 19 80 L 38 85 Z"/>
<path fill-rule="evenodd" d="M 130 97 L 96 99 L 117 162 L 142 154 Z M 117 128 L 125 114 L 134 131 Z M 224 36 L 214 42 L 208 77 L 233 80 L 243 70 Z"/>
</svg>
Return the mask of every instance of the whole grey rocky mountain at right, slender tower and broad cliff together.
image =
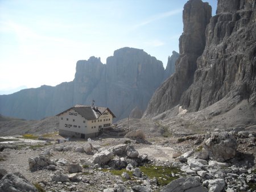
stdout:
<svg viewBox="0 0 256 192">
<path fill-rule="evenodd" d="M 185 4 L 175 73 L 156 90 L 144 118 L 177 115 L 179 105 L 188 112 L 207 108 L 204 118 L 246 108 L 255 122 L 256 3 L 218 0 L 216 13 L 211 17 L 201 0 Z"/>
</svg>

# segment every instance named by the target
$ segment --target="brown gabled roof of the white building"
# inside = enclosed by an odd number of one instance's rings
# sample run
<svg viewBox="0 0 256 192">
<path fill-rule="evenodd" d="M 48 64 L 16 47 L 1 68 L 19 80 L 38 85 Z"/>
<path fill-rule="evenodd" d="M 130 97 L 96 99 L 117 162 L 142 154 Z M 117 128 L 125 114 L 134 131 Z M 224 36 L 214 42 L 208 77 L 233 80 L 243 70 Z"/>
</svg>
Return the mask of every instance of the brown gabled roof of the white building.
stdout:
<svg viewBox="0 0 256 192">
<path fill-rule="evenodd" d="M 78 114 L 80 114 L 87 120 L 98 119 L 106 110 L 108 110 L 112 114 L 113 118 L 115 118 L 115 115 L 113 114 L 112 111 L 110 111 L 108 107 L 97 107 L 97 106 L 86 106 L 86 105 L 75 105 L 61 112 L 60 114 L 57 114 L 56 116 L 64 114 L 64 112 L 67 112 L 71 109 L 75 110 Z"/>
</svg>

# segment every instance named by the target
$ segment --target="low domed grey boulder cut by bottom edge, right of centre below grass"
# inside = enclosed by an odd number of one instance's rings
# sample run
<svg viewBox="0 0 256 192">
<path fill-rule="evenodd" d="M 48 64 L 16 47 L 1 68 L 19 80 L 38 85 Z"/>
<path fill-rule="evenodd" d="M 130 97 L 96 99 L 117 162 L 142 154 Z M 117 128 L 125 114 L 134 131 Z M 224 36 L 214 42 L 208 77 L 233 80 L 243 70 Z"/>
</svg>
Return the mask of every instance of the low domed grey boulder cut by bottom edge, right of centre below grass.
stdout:
<svg viewBox="0 0 256 192">
<path fill-rule="evenodd" d="M 181 177 L 164 186 L 161 192 L 207 192 L 197 177 Z"/>
</svg>

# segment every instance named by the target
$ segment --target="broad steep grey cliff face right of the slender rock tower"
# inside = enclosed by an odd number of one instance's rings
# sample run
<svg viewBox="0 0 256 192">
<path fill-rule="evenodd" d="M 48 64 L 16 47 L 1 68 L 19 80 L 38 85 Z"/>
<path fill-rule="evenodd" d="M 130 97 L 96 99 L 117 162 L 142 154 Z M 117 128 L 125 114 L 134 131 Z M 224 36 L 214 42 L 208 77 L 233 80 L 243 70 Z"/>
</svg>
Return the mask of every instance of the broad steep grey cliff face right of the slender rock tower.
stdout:
<svg viewBox="0 0 256 192">
<path fill-rule="evenodd" d="M 256 106 L 256 8 L 251 0 L 219 0 L 207 26 L 207 44 L 197 60 L 194 82 L 181 98 L 189 111 L 224 97 Z"/>
</svg>

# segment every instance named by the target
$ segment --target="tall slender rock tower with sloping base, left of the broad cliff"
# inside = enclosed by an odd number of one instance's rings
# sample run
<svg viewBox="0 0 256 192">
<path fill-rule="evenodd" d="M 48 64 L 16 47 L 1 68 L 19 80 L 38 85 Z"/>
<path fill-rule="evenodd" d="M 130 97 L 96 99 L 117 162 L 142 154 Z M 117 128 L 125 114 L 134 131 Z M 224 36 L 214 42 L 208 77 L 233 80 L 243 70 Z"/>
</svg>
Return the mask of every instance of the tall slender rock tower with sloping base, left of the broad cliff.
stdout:
<svg viewBox="0 0 256 192">
<path fill-rule="evenodd" d="M 205 29 L 212 8 L 201 0 L 191 0 L 184 5 L 184 32 L 180 36 L 180 57 L 172 74 L 154 93 L 143 117 L 150 118 L 176 106 L 180 97 L 193 82 L 196 60 L 205 48 Z"/>
</svg>

